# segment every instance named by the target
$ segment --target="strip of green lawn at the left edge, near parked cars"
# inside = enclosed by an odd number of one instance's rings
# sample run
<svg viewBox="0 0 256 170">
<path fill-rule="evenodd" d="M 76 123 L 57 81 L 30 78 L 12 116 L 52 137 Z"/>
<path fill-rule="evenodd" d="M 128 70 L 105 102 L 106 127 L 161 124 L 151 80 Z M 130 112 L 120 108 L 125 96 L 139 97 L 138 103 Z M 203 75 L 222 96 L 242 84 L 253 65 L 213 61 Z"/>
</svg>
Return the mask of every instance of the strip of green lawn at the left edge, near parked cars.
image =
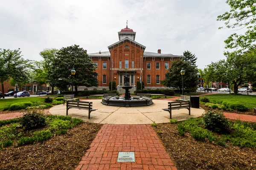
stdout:
<svg viewBox="0 0 256 170">
<path fill-rule="evenodd" d="M 11 99 L 0 99 L 0 110 L 3 110 L 7 105 L 12 105 L 13 103 L 18 102 L 44 102 L 44 97 L 20 97 L 20 98 L 11 98 Z"/>
</svg>

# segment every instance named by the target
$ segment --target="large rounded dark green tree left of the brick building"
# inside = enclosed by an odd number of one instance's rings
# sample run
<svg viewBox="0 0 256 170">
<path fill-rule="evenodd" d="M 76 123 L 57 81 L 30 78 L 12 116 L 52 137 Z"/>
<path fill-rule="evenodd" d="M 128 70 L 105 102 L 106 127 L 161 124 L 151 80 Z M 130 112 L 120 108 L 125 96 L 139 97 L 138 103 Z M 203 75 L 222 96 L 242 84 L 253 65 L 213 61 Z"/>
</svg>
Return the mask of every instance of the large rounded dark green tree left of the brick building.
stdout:
<svg viewBox="0 0 256 170">
<path fill-rule="evenodd" d="M 53 84 L 61 90 L 72 85 L 71 69 L 75 68 L 74 86 L 77 93 L 78 86 L 92 87 L 97 86 L 98 80 L 94 77 L 98 74 L 95 72 L 96 66 L 90 60 L 88 54 L 79 45 L 72 45 L 69 47 L 62 47 L 58 52 L 56 58 L 52 62 L 52 74 L 50 79 Z"/>
</svg>

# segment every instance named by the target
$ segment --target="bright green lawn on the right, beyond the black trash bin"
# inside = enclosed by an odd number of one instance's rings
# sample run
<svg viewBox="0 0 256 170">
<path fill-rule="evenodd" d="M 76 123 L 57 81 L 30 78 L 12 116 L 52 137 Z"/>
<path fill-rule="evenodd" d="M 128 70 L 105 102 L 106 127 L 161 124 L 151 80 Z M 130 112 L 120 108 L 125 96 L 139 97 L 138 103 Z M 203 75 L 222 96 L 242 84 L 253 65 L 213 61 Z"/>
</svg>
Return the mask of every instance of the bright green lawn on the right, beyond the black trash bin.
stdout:
<svg viewBox="0 0 256 170">
<path fill-rule="evenodd" d="M 230 102 L 239 102 L 250 109 L 256 107 L 256 95 L 214 94 L 206 97 L 210 100 L 210 102 L 222 102 L 225 100 Z"/>
</svg>

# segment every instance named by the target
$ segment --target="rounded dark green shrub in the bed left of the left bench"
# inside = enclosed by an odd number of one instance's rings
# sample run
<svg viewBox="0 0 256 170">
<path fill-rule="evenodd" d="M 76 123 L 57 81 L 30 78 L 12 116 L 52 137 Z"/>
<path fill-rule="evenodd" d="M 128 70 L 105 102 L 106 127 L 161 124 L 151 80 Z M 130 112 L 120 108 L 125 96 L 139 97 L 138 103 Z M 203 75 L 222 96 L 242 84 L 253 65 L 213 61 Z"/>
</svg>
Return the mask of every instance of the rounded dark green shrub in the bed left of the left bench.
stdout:
<svg viewBox="0 0 256 170">
<path fill-rule="evenodd" d="M 25 129 L 46 125 L 44 113 L 36 109 L 26 110 L 25 114 L 20 118 L 20 122 Z"/>
</svg>

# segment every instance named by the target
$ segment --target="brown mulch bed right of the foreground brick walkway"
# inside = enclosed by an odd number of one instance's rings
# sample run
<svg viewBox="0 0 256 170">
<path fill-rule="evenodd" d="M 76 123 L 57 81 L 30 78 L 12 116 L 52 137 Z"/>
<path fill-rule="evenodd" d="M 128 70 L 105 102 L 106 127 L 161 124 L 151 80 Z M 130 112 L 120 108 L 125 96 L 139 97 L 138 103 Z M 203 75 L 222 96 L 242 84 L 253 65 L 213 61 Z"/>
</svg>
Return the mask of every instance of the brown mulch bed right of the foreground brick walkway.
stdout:
<svg viewBox="0 0 256 170">
<path fill-rule="evenodd" d="M 180 136 L 177 124 L 157 124 L 153 127 L 178 170 L 256 170 L 256 149 L 227 147 L 198 142 L 191 134 Z"/>
</svg>

